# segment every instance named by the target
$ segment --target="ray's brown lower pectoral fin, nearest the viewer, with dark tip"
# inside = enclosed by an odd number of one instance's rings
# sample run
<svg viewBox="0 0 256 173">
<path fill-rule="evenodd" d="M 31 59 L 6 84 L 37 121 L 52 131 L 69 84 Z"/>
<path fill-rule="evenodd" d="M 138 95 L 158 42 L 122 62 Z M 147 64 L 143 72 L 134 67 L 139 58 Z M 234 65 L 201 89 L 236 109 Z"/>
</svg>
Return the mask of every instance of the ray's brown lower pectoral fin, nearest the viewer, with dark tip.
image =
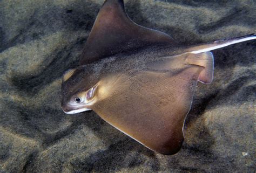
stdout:
<svg viewBox="0 0 256 173">
<path fill-rule="evenodd" d="M 103 79 L 92 105 L 102 119 L 161 154 L 177 153 L 201 68 L 143 71 Z"/>
</svg>

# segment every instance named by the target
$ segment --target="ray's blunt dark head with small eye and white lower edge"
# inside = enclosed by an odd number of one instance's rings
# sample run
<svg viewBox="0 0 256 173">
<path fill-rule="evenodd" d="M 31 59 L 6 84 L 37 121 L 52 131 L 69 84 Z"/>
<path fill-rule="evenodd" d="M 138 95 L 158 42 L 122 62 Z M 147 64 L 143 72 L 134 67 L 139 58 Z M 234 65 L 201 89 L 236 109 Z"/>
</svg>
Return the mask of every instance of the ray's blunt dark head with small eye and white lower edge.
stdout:
<svg viewBox="0 0 256 173">
<path fill-rule="evenodd" d="M 91 110 L 97 89 L 96 73 L 89 66 L 66 71 L 62 78 L 62 109 L 66 114 Z"/>
</svg>

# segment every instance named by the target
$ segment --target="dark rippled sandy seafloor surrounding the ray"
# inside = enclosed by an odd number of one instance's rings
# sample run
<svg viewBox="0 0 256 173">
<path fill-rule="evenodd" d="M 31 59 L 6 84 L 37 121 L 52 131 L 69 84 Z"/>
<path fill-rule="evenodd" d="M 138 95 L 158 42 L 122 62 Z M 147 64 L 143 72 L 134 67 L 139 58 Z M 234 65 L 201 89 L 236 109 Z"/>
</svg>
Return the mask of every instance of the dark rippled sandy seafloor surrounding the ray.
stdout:
<svg viewBox="0 0 256 173">
<path fill-rule="evenodd" d="M 198 84 L 178 154 L 154 153 L 94 112 L 60 108 L 62 74 L 103 1 L 0 1 L 1 172 L 255 172 L 256 41 L 213 51 L 214 80 Z M 256 3 L 125 1 L 136 23 L 197 44 L 256 32 Z"/>
</svg>

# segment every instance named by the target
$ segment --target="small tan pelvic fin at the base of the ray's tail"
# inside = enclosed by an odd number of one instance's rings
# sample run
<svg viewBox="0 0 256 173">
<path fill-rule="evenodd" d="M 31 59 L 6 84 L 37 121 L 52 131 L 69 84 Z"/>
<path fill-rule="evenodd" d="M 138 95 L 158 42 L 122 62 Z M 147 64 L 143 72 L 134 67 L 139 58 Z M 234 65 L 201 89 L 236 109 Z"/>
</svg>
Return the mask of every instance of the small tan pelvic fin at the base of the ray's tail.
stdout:
<svg viewBox="0 0 256 173">
<path fill-rule="evenodd" d="M 186 58 L 186 63 L 191 65 L 198 65 L 204 67 L 198 77 L 198 81 L 203 84 L 210 84 L 213 80 L 213 68 L 214 68 L 214 59 L 212 52 L 203 52 L 203 53 L 189 53 Z"/>
</svg>

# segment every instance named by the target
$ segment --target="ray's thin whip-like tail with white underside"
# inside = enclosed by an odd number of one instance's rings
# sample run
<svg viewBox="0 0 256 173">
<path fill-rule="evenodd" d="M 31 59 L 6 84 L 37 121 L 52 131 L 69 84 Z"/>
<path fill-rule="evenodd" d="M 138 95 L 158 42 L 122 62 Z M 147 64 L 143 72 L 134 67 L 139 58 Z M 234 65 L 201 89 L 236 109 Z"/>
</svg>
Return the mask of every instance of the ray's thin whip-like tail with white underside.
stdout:
<svg viewBox="0 0 256 173">
<path fill-rule="evenodd" d="M 225 47 L 228 45 L 240 43 L 243 41 L 253 40 L 253 39 L 256 39 L 256 35 L 254 33 L 248 34 L 248 35 L 242 36 L 242 37 L 215 40 L 210 43 L 196 45 L 196 46 L 188 48 L 187 51 L 191 52 L 191 53 L 203 53 L 203 52 L 219 49 L 221 47 Z"/>
</svg>

